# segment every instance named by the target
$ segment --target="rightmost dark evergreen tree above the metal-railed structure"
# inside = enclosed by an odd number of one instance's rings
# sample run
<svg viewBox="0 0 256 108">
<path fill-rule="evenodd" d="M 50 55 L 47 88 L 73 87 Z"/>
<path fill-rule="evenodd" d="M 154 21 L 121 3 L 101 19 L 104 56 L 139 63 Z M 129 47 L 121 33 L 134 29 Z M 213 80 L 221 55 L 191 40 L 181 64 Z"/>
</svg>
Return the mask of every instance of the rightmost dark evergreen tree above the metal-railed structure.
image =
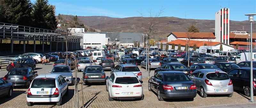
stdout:
<svg viewBox="0 0 256 108">
<path fill-rule="evenodd" d="M 48 0 L 36 0 L 33 4 L 33 8 L 33 27 L 50 30 L 55 30 L 57 28 L 53 6 L 48 4 Z"/>
</svg>

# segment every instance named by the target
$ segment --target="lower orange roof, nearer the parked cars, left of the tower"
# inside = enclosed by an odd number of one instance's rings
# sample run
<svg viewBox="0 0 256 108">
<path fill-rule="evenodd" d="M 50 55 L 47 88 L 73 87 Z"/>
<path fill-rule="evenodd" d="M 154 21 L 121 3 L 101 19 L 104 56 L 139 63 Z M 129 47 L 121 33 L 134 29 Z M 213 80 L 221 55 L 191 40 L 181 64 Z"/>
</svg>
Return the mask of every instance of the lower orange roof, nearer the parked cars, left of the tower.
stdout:
<svg viewBox="0 0 256 108">
<path fill-rule="evenodd" d="M 175 45 L 181 45 L 186 46 L 186 40 L 173 40 L 171 42 L 168 42 L 168 44 L 172 45 L 174 43 Z M 188 43 L 188 40 L 187 40 Z M 190 47 L 193 47 L 194 44 L 196 44 L 196 47 L 204 46 L 204 43 L 206 43 L 208 46 L 215 46 L 217 44 L 220 44 L 221 42 L 210 42 L 210 41 L 198 41 L 198 40 L 190 40 Z"/>
</svg>

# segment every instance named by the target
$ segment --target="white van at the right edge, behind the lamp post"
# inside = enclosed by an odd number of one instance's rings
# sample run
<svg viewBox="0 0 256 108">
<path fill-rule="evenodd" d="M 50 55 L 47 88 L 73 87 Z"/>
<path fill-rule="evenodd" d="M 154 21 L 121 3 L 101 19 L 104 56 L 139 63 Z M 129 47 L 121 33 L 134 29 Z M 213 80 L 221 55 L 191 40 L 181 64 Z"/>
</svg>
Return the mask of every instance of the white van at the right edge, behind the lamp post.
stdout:
<svg viewBox="0 0 256 108">
<path fill-rule="evenodd" d="M 249 60 L 250 53 L 240 53 L 238 54 L 236 58 L 236 64 L 242 62 L 242 61 L 250 61 Z M 250 57 L 251 58 L 251 57 Z M 252 61 L 256 61 L 256 53 L 252 53 Z"/>
</svg>

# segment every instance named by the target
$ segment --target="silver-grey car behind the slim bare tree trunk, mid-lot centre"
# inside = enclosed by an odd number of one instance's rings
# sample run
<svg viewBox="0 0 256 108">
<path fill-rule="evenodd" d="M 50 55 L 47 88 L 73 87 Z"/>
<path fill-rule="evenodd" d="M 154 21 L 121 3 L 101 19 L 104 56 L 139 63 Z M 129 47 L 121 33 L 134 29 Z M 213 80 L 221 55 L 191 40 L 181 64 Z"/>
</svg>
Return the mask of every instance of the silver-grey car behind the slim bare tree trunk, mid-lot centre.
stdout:
<svg viewBox="0 0 256 108">
<path fill-rule="evenodd" d="M 147 62 L 147 60 L 149 61 L 149 63 Z M 149 66 L 149 69 L 156 69 L 161 66 L 161 63 L 155 58 L 144 59 L 140 64 L 140 68 L 146 68 L 146 65 L 147 67 Z"/>
</svg>

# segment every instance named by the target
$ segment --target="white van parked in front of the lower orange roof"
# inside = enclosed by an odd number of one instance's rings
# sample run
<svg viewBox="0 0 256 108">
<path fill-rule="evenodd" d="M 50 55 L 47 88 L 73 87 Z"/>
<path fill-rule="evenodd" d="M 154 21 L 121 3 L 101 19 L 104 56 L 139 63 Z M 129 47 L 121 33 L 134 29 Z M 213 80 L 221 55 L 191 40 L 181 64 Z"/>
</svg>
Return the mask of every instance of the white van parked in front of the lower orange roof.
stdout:
<svg viewBox="0 0 256 108">
<path fill-rule="evenodd" d="M 213 57 L 217 58 L 219 57 L 220 48 L 216 46 L 200 46 L 198 53 L 211 54 Z"/>
</svg>

